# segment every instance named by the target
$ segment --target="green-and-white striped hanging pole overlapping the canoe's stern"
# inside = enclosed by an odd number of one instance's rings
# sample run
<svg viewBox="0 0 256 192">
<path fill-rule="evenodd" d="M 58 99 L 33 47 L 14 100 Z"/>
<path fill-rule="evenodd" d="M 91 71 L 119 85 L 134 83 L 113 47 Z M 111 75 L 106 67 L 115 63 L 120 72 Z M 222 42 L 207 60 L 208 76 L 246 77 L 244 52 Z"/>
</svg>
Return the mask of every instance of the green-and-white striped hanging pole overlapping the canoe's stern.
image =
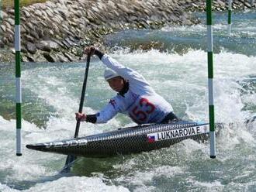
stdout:
<svg viewBox="0 0 256 192">
<path fill-rule="evenodd" d="M 216 158 L 216 155 L 215 155 L 216 144 L 215 144 L 215 130 L 214 130 L 214 105 L 213 105 L 213 26 L 212 26 L 212 23 L 213 23 L 212 0 L 206 0 L 210 157 Z"/>
</svg>

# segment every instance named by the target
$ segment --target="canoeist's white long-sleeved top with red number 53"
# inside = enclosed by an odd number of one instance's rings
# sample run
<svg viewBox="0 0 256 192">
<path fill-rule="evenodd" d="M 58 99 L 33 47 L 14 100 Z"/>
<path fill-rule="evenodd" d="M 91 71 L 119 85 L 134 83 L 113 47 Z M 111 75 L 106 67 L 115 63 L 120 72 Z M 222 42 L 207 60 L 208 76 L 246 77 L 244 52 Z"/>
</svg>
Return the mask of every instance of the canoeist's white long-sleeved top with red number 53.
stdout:
<svg viewBox="0 0 256 192">
<path fill-rule="evenodd" d="M 157 94 L 137 71 L 124 67 L 104 54 L 102 62 L 129 82 L 129 90 L 123 96 L 117 94 L 97 114 L 96 123 L 105 123 L 118 112 L 129 115 L 137 124 L 159 123 L 173 111 L 171 105 Z"/>
</svg>

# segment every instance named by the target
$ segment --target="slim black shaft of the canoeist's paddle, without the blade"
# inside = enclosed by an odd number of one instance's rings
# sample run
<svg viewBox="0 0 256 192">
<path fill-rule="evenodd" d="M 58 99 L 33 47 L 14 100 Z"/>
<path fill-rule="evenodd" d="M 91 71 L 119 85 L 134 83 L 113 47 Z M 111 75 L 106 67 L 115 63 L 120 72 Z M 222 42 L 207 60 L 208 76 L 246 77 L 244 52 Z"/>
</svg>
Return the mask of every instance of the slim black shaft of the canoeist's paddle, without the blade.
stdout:
<svg viewBox="0 0 256 192">
<path fill-rule="evenodd" d="M 83 111 L 83 105 L 84 105 L 84 101 L 85 101 L 85 91 L 86 91 L 86 84 L 87 84 L 87 77 L 88 77 L 90 60 L 91 60 L 91 55 L 88 55 L 87 60 L 86 60 L 85 79 L 84 79 L 83 87 L 82 87 L 82 90 L 81 90 L 81 99 L 80 99 L 79 110 L 78 110 L 79 113 L 81 113 Z M 77 125 L 75 126 L 74 138 L 78 137 L 80 122 L 81 122 L 81 119 L 78 118 Z"/>
</svg>

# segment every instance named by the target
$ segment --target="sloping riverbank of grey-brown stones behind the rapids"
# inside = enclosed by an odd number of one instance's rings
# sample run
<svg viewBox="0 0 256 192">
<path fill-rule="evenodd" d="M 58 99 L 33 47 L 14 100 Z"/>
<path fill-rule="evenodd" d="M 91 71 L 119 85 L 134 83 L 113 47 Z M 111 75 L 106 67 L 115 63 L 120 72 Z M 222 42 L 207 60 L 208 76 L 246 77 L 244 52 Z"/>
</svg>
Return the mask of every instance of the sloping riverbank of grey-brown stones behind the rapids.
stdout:
<svg viewBox="0 0 256 192">
<path fill-rule="evenodd" d="M 107 49 L 102 43 L 107 34 L 193 25 L 200 21 L 190 12 L 205 8 L 205 0 L 50 0 L 22 7 L 22 61 L 77 61 L 84 46 Z M 233 9 L 250 8 L 251 0 L 233 3 Z M 227 9 L 227 0 L 213 1 L 213 9 Z M 14 10 L 2 10 L 0 20 L 0 62 L 8 62 L 14 60 Z"/>
</svg>

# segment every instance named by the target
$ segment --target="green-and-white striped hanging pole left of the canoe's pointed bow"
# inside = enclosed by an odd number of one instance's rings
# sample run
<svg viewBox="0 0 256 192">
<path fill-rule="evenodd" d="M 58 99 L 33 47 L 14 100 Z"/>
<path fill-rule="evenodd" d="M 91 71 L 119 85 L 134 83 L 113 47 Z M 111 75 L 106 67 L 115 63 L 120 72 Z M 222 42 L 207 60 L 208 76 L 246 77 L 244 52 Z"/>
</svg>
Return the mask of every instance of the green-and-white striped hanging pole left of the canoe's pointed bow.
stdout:
<svg viewBox="0 0 256 192">
<path fill-rule="evenodd" d="M 16 50 L 16 156 L 22 156 L 21 146 L 21 104 L 22 104 L 22 91 L 21 91 L 21 67 L 20 67 L 20 25 L 19 25 L 19 0 L 14 2 L 15 9 L 15 50 Z"/>
</svg>

